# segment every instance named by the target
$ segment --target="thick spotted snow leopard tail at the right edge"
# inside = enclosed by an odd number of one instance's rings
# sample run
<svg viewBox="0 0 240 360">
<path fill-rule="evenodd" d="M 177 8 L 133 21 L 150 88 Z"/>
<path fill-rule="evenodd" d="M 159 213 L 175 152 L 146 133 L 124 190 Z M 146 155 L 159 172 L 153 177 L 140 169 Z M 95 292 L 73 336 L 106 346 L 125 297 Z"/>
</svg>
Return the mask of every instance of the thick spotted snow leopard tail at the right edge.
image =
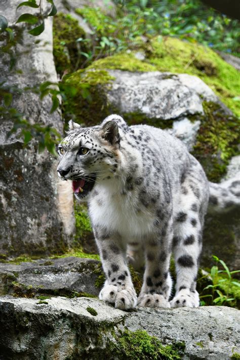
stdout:
<svg viewBox="0 0 240 360">
<path fill-rule="evenodd" d="M 240 174 L 220 184 L 209 182 L 209 211 L 225 212 L 240 206 Z"/>
</svg>

